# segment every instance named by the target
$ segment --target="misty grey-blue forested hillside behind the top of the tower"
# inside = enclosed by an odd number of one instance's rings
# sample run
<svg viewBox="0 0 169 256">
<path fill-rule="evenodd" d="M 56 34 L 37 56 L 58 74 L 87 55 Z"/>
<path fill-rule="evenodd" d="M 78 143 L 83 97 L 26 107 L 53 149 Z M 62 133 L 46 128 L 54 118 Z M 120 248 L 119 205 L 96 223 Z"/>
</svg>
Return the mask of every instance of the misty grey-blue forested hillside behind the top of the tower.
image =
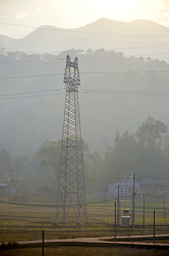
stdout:
<svg viewBox="0 0 169 256">
<path fill-rule="evenodd" d="M 90 148 L 100 151 L 104 147 L 100 137 L 112 144 L 110 134 L 115 136 L 117 127 L 121 132 L 135 131 L 148 115 L 163 117 L 169 125 L 165 111 L 169 64 L 164 60 L 103 48 L 58 55 L 1 53 L 0 78 L 5 79 L 1 79 L 0 149 L 13 156 L 25 150 L 30 155 L 45 139 L 61 138 L 67 54 L 71 60 L 78 57 L 81 127 Z"/>
</svg>

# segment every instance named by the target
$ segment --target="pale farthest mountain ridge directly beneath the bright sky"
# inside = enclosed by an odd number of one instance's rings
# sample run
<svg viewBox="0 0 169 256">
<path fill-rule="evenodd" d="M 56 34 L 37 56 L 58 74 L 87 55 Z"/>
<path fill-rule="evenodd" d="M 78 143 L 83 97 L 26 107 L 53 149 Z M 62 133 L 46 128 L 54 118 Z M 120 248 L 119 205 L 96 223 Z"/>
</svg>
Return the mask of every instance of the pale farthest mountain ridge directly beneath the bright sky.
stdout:
<svg viewBox="0 0 169 256">
<path fill-rule="evenodd" d="M 25 53 L 59 53 L 71 48 L 122 51 L 126 55 L 151 55 L 163 58 L 159 53 L 169 51 L 169 28 L 153 21 L 98 21 L 75 29 L 41 26 L 24 38 L 6 46 L 11 51 Z"/>
</svg>

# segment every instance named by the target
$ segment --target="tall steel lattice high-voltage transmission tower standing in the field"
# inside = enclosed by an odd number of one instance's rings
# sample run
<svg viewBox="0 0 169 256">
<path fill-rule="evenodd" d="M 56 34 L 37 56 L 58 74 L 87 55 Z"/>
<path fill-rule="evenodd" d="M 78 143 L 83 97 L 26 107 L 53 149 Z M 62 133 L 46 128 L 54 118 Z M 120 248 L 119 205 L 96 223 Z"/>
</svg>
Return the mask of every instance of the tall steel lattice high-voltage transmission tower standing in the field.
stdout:
<svg viewBox="0 0 169 256">
<path fill-rule="evenodd" d="M 81 141 L 81 124 L 78 107 L 78 88 L 81 84 L 78 71 L 78 58 L 71 62 L 66 57 L 64 73 L 66 100 L 64 107 L 64 125 L 62 133 L 62 150 L 57 187 L 56 218 L 66 224 L 66 218 L 76 216 L 76 226 L 81 228 L 81 218 L 89 225 L 86 207 L 86 187 L 83 170 L 83 151 Z M 68 214 L 69 213 L 69 214 Z"/>
</svg>

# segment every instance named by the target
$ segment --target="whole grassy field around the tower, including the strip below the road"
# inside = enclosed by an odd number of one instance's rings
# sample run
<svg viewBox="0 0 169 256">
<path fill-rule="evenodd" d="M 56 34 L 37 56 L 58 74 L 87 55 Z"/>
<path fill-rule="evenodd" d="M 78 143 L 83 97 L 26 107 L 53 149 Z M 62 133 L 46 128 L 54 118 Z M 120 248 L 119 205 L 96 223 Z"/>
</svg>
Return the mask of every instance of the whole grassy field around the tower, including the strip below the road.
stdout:
<svg viewBox="0 0 169 256">
<path fill-rule="evenodd" d="M 115 212 L 114 203 L 115 200 L 110 198 L 89 198 L 88 199 L 88 219 L 91 223 L 90 227 L 85 227 L 83 223 L 85 220 L 81 219 L 82 228 L 76 228 L 76 220 L 74 215 L 70 215 L 67 219 L 66 225 L 59 225 L 59 228 L 52 228 L 55 215 L 55 203 L 45 197 L 30 198 L 26 196 L 14 198 L 1 198 L 0 200 L 0 242 L 16 242 L 18 240 L 41 240 L 42 230 L 45 230 L 45 239 L 55 238 L 80 238 L 80 237 L 98 237 L 98 236 L 113 236 L 115 235 Z M 14 204 L 11 204 L 14 203 Z M 100 203 L 99 203 L 100 202 Z M 165 220 L 163 213 L 163 200 L 162 198 L 146 198 L 145 208 L 145 226 L 143 226 L 143 198 L 136 198 L 135 209 L 135 229 L 131 227 L 120 227 L 117 229 L 117 235 L 148 235 L 153 234 L 153 209 L 156 209 L 156 234 L 169 233 L 169 198 L 165 200 Z M 160 241 L 160 240 L 159 240 Z M 147 240 L 151 242 L 151 239 Z M 158 240 L 156 240 L 158 242 Z M 165 239 L 162 242 L 167 243 Z M 92 248 L 93 249 L 93 248 Z M 116 249 L 116 248 L 115 248 Z M 31 255 L 27 254 L 27 250 L 35 250 L 35 255 L 42 255 L 40 248 L 27 248 L 27 249 L 15 249 L 15 254 L 12 254 L 13 250 L 1 251 L 1 255 Z M 47 248 L 46 250 L 50 250 Z M 83 248 L 84 252 L 78 254 L 78 250 L 81 248 L 68 249 L 69 254 L 65 250 L 66 248 L 51 248 L 49 255 L 54 255 L 54 250 L 60 250 L 56 255 L 97 255 L 101 253 L 100 249 L 95 249 L 95 253 L 87 248 Z M 107 248 L 107 252 L 103 255 L 110 255 L 114 250 L 113 248 Z M 115 255 L 122 255 L 122 249 L 119 249 Z M 19 251 L 19 252 L 18 252 Z M 89 252 L 91 254 L 89 254 Z M 6 254 L 7 253 L 7 254 Z M 11 253 L 11 254 L 9 254 Z M 18 254 L 17 254 L 18 253 Z M 48 252 L 46 252 L 48 253 Z M 92 254 L 93 253 L 93 254 Z M 107 254 L 106 254 L 107 253 Z M 109 254 L 110 253 L 110 254 Z M 118 254 L 117 254 L 118 253 Z M 128 252 L 125 252 L 127 255 Z M 132 253 L 132 252 L 131 252 Z M 129 255 L 134 255 L 134 254 Z M 134 253 L 134 252 L 133 252 Z M 135 255 L 141 254 L 140 250 Z M 153 252 L 152 252 L 153 253 Z M 163 252 L 165 253 L 165 252 Z M 48 254 L 47 254 L 48 255 Z M 102 255 L 102 254 L 99 254 Z M 150 256 L 151 253 L 148 252 Z M 152 255 L 165 255 L 165 254 L 152 254 Z"/>
</svg>

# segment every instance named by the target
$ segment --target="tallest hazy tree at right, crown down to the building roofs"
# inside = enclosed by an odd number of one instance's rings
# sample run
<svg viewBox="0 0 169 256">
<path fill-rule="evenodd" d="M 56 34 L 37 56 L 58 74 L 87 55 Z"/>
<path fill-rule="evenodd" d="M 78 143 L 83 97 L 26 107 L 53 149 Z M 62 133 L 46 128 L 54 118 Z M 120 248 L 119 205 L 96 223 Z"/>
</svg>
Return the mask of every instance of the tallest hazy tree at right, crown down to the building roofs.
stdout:
<svg viewBox="0 0 169 256">
<path fill-rule="evenodd" d="M 163 122 L 148 117 L 137 129 L 141 157 L 139 166 L 142 178 L 164 178 L 166 157 L 163 143 L 167 142 L 168 127 Z"/>
</svg>

